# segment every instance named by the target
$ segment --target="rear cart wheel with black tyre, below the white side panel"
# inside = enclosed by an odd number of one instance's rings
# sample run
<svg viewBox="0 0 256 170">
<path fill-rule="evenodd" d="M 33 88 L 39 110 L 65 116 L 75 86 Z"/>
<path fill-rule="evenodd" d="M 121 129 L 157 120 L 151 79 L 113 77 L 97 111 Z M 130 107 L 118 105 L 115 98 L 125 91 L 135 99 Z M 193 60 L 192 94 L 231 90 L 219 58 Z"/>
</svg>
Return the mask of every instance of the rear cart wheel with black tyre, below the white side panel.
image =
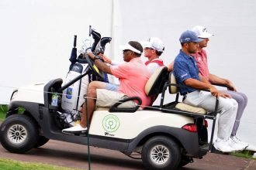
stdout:
<svg viewBox="0 0 256 170">
<path fill-rule="evenodd" d="M 180 160 L 179 146 L 165 136 L 150 138 L 142 148 L 142 161 L 147 169 L 175 169 Z"/>
</svg>

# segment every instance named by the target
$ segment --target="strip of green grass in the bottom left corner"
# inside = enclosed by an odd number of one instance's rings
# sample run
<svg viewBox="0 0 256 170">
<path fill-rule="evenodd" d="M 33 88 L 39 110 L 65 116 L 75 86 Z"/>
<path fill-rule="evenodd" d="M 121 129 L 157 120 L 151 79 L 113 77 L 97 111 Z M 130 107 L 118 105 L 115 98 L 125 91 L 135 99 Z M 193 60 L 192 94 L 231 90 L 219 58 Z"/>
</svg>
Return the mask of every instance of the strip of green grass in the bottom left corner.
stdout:
<svg viewBox="0 0 256 170">
<path fill-rule="evenodd" d="M 0 170 L 27 170 L 27 169 L 36 169 L 36 170 L 71 170 L 78 168 L 65 168 L 61 166 L 42 164 L 42 163 L 31 163 L 31 162 L 19 162 L 13 161 L 6 158 L 0 158 Z"/>
</svg>

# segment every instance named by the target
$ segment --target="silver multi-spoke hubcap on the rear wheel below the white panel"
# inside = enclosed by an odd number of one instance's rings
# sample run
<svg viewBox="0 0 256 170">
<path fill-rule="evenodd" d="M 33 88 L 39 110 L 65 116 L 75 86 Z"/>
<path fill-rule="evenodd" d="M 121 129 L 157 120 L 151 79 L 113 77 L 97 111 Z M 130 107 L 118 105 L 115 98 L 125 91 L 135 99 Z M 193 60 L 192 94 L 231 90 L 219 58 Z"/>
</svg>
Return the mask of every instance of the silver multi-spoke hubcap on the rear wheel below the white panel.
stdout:
<svg viewBox="0 0 256 170">
<path fill-rule="evenodd" d="M 168 162 L 170 151 L 164 145 L 155 145 L 150 150 L 150 159 L 154 164 L 163 165 Z"/>
</svg>

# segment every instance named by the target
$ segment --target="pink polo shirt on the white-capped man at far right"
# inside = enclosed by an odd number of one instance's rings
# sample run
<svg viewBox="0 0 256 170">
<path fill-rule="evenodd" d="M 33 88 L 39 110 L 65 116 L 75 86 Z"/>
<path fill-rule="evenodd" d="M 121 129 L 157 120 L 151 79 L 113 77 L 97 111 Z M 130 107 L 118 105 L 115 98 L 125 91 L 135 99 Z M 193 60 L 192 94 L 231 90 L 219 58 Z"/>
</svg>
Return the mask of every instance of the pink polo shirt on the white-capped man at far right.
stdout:
<svg viewBox="0 0 256 170">
<path fill-rule="evenodd" d="M 192 54 L 196 60 L 196 65 L 199 68 L 199 72 L 203 77 L 206 78 L 206 80 L 209 80 L 209 69 L 208 69 L 208 63 L 207 63 L 207 54 L 206 50 L 201 49 L 200 52 Z"/>
</svg>

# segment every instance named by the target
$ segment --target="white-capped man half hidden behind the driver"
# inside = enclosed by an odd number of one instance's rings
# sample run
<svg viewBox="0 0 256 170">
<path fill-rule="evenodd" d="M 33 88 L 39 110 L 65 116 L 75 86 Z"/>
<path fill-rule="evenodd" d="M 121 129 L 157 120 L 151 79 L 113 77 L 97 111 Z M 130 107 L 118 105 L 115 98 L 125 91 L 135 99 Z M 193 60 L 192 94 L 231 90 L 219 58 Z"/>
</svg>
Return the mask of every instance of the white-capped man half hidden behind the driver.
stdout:
<svg viewBox="0 0 256 170">
<path fill-rule="evenodd" d="M 144 56 L 148 58 L 145 65 L 153 74 L 159 66 L 164 66 L 163 60 L 159 57 L 164 52 L 164 43 L 157 37 L 150 37 L 147 42 L 141 42 L 144 46 Z"/>
</svg>

